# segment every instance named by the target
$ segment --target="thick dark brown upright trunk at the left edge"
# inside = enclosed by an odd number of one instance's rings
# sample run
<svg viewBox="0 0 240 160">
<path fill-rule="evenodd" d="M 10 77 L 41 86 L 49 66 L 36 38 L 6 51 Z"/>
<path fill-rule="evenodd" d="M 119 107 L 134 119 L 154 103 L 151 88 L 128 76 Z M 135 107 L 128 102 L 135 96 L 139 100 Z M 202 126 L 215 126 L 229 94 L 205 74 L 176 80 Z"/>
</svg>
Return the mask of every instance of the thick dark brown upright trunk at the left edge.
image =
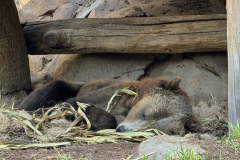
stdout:
<svg viewBox="0 0 240 160">
<path fill-rule="evenodd" d="M 27 47 L 14 0 L 0 1 L 0 104 L 1 95 L 31 88 Z"/>
</svg>

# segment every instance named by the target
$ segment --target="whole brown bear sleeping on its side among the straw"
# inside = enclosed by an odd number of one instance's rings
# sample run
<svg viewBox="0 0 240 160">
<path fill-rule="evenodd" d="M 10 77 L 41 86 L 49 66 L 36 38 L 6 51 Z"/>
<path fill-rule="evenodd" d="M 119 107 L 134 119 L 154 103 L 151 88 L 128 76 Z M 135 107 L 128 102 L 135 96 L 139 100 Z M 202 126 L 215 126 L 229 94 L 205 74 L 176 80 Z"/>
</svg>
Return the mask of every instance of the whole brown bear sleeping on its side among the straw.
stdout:
<svg viewBox="0 0 240 160">
<path fill-rule="evenodd" d="M 202 125 L 193 116 L 188 95 L 179 86 L 180 81 L 180 78 L 170 80 L 165 77 L 145 78 L 141 81 L 109 79 L 88 83 L 54 81 L 33 91 L 21 103 L 19 109 L 33 111 L 64 101 L 74 107 L 77 107 L 76 101 L 90 103 L 99 108 L 93 109 L 91 116 L 96 116 L 94 113 L 100 112 L 97 117 L 101 121 L 90 121 L 96 126 L 103 126 L 97 130 L 114 128 L 114 125 L 109 125 L 114 120 L 106 118 L 112 116 L 105 112 L 107 103 L 117 89 L 134 87 L 138 96 L 121 95 L 120 101 L 111 111 L 115 116 L 126 117 L 123 122 L 118 121 L 116 131 L 137 131 L 154 127 L 167 134 L 183 136 L 188 131 L 201 131 Z M 101 112 L 104 114 L 101 115 Z"/>
</svg>

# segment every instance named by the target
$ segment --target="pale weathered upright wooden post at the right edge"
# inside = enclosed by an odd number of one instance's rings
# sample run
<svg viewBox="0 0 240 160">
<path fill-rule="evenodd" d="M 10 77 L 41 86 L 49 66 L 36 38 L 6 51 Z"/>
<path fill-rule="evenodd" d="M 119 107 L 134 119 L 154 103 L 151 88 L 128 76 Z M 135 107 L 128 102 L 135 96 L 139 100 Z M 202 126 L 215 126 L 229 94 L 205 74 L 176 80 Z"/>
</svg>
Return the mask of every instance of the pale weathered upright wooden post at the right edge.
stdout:
<svg viewBox="0 0 240 160">
<path fill-rule="evenodd" d="M 229 121 L 240 122 L 240 1 L 227 1 L 228 112 Z"/>
</svg>

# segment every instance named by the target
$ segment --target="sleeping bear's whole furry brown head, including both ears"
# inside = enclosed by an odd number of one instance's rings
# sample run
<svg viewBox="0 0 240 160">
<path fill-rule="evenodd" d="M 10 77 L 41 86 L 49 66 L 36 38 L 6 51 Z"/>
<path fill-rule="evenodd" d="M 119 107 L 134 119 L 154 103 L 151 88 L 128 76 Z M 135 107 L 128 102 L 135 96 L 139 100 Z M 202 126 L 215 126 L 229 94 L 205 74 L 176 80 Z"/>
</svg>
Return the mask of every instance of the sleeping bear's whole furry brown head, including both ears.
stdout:
<svg viewBox="0 0 240 160">
<path fill-rule="evenodd" d="M 169 80 L 163 77 L 142 80 L 137 86 L 139 97 L 117 131 L 139 130 L 153 121 L 156 122 L 151 127 L 167 134 L 184 135 L 188 131 L 201 131 L 201 122 L 192 115 L 189 97 L 180 88 L 180 81 L 180 78 Z M 143 113 L 144 120 L 140 120 Z"/>
</svg>

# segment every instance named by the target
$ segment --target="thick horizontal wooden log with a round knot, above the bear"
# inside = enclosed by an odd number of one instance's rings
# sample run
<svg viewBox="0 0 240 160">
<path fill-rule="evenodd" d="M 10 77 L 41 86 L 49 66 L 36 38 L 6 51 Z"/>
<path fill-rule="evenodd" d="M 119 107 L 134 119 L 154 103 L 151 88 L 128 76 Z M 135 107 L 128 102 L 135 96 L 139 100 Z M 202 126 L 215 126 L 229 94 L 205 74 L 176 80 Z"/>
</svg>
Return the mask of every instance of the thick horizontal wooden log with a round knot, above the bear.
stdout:
<svg viewBox="0 0 240 160">
<path fill-rule="evenodd" d="M 25 24 L 30 54 L 226 51 L 226 15 L 69 19 Z"/>
</svg>

